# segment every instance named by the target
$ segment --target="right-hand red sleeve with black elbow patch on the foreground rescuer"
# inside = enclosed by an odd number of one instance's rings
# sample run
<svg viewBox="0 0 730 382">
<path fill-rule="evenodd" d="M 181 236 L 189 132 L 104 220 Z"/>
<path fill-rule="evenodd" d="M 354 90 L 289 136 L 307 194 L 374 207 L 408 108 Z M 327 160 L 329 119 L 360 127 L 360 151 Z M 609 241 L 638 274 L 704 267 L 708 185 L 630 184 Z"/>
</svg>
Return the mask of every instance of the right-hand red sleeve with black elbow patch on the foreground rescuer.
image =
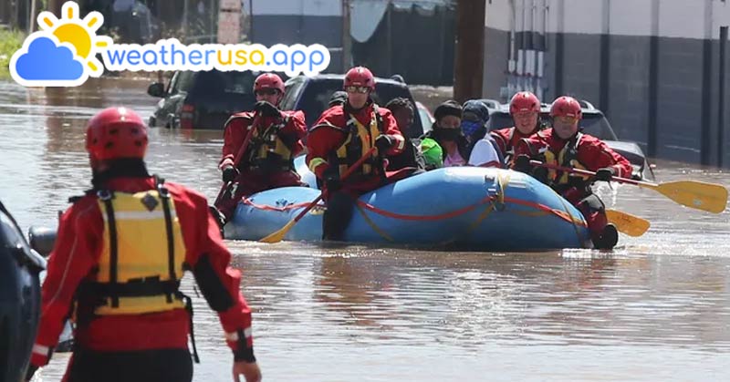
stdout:
<svg viewBox="0 0 730 382">
<path fill-rule="evenodd" d="M 208 202 L 195 191 L 166 184 L 171 193 L 176 189 L 176 193 L 184 195 L 175 198 L 176 210 L 179 204 L 190 203 L 187 210 L 192 214 L 180 213 L 180 219 L 187 248 L 186 260 L 193 269 L 195 281 L 208 305 L 218 313 L 226 343 L 234 351 L 236 359 L 252 360 L 251 309 L 240 292 L 241 271 L 231 267 L 231 253 L 209 212 Z M 180 211 L 185 207 L 181 205 Z"/>
</svg>

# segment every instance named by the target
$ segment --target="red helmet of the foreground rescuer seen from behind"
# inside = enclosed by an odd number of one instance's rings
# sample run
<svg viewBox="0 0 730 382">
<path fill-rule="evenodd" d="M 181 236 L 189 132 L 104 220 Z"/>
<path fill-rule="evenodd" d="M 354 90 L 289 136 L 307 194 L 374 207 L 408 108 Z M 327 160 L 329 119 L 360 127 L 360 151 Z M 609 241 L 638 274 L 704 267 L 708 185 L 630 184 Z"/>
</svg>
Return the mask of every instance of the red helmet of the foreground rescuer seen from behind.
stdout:
<svg viewBox="0 0 730 382">
<path fill-rule="evenodd" d="M 142 159 L 147 142 L 147 128 L 130 108 L 105 108 L 86 128 L 86 150 L 92 160 Z"/>
</svg>

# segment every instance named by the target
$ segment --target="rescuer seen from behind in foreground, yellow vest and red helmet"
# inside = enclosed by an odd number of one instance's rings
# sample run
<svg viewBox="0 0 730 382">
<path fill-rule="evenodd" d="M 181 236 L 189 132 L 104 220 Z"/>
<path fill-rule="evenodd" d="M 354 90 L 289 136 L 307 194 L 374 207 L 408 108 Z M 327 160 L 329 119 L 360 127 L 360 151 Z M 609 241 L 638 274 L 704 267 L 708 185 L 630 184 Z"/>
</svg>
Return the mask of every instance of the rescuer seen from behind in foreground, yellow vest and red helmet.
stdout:
<svg viewBox="0 0 730 382">
<path fill-rule="evenodd" d="M 192 307 L 181 293 L 192 271 L 233 350 L 234 380 L 261 379 L 251 310 L 239 291 L 205 197 L 151 176 L 147 129 L 129 108 L 89 120 L 93 189 L 72 198 L 48 261 L 30 379 L 45 366 L 68 316 L 75 348 L 64 381 L 190 381 Z M 194 352 L 193 337 L 193 355 Z"/>
</svg>

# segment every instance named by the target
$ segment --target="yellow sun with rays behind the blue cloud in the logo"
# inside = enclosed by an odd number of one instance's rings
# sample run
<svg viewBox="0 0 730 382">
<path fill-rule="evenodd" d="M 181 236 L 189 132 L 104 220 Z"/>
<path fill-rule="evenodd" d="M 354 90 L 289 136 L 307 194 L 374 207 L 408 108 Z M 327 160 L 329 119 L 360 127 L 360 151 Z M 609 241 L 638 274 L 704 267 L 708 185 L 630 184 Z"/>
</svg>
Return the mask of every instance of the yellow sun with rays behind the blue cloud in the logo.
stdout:
<svg viewBox="0 0 730 382">
<path fill-rule="evenodd" d="M 38 15 L 38 26 L 41 30 L 56 36 L 61 44 L 68 43 L 76 49 L 76 55 L 82 58 L 89 68 L 89 76 L 99 77 L 104 67 L 95 57 L 99 47 L 111 46 L 110 36 L 97 36 L 96 31 L 104 23 L 104 15 L 97 11 L 89 12 L 83 20 L 78 18 L 78 4 L 66 2 L 61 7 L 61 18 L 50 12 Z"/>
</svg>

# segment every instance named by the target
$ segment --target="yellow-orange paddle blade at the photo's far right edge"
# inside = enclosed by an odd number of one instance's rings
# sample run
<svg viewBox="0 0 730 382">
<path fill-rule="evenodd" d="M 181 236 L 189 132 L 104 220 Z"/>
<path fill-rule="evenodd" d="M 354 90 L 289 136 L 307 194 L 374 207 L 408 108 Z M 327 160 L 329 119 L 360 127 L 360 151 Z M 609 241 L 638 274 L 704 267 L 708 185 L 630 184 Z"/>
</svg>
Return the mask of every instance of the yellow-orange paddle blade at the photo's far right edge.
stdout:
<svg viewBox="0 0 730 382">
<path fill-rule="evenodd" d="M 697 210 L 721 213 L 725 211 L 727 205 L 727 189 L 719 184 L 702 181 L 670 181 L 651 188 L 673 201 Z"/>
</svg>

